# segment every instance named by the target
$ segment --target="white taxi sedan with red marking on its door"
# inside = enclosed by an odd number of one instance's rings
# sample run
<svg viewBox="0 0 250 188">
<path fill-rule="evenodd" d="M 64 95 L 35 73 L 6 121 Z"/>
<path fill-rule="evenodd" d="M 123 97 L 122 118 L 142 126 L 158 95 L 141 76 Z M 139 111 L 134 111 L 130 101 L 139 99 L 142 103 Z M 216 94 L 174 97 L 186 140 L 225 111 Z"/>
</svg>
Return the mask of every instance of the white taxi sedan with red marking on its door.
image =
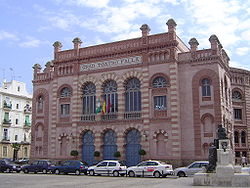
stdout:
<svg viewBox="0 0 250 188">
<path fill-rule="evenodd" d="M 174 171 L 172 165 L 152 160 L 142 161 L 137 166 L 131 166 L 127 168 L 127 175 L 129 177 L 135 177 L 135 176 L 165 177 L 167 175 L 173 175 L 173 173 Z"/>
</svg>

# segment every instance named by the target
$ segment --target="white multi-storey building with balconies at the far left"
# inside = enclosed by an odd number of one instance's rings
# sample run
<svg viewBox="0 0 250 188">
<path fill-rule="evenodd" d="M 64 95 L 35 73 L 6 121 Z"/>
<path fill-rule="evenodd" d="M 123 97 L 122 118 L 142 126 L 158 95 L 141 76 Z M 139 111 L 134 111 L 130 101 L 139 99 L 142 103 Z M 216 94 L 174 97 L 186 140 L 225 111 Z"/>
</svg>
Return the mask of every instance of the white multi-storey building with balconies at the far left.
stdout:
<svg viewBox="0 0 250 188">
<path fill-rule="evenodd" d="M 0 88 L 0 158 L 13 158 L 13 144 L 19 147 L 15 158 L 29 158 L 32 95 L 23 82 L 4 81 Z"/>
</svg>

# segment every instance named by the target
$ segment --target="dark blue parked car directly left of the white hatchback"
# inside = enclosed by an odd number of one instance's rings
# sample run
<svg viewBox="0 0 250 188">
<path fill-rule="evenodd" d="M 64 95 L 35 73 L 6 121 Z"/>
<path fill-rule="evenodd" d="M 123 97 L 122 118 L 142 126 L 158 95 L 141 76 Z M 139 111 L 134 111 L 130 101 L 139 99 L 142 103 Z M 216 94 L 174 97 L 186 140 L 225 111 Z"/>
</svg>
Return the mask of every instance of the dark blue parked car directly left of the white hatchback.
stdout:
<svg viewBox="0 0 250 188">
<path fill-rule="evenodd" d="M 65 161 L 61 165 L 53 166 L 51 171 L 54 174 L 68 174 L 68 173 L 75 173 L 76 175 L 80 175 L 84 173 L 87 175 L 88 165 L 85 162 L 78 161 L 78 160 L 69 160 Z"/>
</svg>

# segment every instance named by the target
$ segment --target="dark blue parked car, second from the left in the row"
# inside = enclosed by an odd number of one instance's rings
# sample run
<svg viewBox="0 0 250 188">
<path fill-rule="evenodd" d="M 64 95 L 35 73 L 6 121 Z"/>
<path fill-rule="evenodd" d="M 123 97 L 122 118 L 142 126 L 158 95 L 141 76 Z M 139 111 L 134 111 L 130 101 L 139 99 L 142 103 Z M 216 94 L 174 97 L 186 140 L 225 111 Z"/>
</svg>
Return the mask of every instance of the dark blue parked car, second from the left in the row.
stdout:
<svg viewBox="0 0 250 188">
<path fill-rule="evenodd" d="M 42 172 L 42 173 L 46 174 L 47 172 L 51 171 L 52 166 L 53 166 L 53 164 L 49 160 L 38 160 L 38 161 L 35 161 L 31 164 L 22 166 L 22 171 L 24 173 Z"/>
</svg>

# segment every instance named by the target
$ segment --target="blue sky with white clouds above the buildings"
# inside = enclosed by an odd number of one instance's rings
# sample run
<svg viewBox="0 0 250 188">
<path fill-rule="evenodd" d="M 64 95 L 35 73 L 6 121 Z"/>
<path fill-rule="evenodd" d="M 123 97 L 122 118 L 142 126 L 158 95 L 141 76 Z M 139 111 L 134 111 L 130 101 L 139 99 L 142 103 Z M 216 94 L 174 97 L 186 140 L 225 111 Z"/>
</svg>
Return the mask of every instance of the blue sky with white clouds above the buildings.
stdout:
<svg viewBox="0 0 250 188">
<path fill-rule="evenodd" d="M 53 60 L 53 43 L 72 49 L 167 32 L 173 18 L 188 45 L 210 48 L 217 35 L 230 66 L 250 70 L 250 0 L 0 0 L 0 80 L 25 82 L 32 92 L 33 65 Z M 189 45 L 188 45 L 189 46 Z"/>
</svg>

